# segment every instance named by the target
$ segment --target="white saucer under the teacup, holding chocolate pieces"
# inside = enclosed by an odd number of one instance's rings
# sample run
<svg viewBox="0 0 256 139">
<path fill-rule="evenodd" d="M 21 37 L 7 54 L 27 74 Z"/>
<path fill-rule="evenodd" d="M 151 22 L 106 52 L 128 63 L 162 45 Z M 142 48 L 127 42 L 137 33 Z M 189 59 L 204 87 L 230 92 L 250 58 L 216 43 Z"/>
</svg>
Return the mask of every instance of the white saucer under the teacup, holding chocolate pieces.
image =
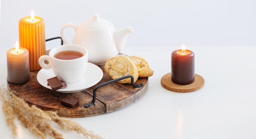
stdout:
<svg viewBox="0 0 256 139">
<path fill-rule="evenodd" d="M 47 79 L 53 78 L 53 77 L 55 77 L 55 74 L 53 73 L 52 69 L 49 69 L 49 70 L 41 69 L 38 72 L 36 79 L 38 83 L 40 83 L 40 85 L 42 85 L 43 87 L 52 89 L 50 86 L 47 85 Z M 56 91 L 61 93 L 79 92 L 96 85 L 97 83 L 99 83 L 102 77 L 103 77 L 103 72 L 101 68 L 98 67 L 97 65 L 94 65 L 88 62 L 86 72 L 81 80 L 79 80 L 76 83 L 67 83 L 67 87 L 63 89 L 58 89 Z"/>
</svg>

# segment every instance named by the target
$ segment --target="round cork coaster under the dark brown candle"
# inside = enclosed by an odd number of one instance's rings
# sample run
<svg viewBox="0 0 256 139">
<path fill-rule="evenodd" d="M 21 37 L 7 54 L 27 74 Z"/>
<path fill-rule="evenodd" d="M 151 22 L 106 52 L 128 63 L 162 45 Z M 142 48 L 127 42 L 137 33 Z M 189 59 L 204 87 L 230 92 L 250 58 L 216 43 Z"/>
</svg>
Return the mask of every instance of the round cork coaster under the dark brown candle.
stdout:
<svg viewBox="0 0 256 139">
<path fill-rule="evenodd" d="M 204 86 L 204 78 L 198 74 L 195 74 L 195 81 L 193 83 L 189 85 L 177 85 L 173 83 L 173 81 L 171 80 L 171 72 L 170 72 L 168 74 L 165 74 L 161 78 L 161 84 L 167 90 L 180 92 L 180 93 L 188 93 L 188 92 L 193 92 L 202 88 Z"/>
</svg>

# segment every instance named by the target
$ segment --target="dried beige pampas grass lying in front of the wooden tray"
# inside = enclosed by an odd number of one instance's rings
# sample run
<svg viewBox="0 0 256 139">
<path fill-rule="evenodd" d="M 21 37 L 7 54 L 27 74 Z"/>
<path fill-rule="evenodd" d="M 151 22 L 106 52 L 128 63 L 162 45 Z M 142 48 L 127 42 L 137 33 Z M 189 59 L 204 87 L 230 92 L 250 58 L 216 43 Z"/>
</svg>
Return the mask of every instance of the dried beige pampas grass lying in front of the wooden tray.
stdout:
<svg viewBox="0 0 256 139">
<path fill-rule="evenodd" d="M 29 106 L 25 100 L 17 97 L 12 91 L 0 87 L 0 92 L 2 111 L 7 117 L 7 125 L 11 127 L 14 137 L 17 136 L 17 126 L 14 123 L 14 119 L 17 117 L 23 126 L 42 139 L 45 139 L 47 134 L 55 139 L 63 139 L 62 134 L 52 128 L 51 122 L 55 122 L 64 130 L 83 134 L 86 139 L 102 139 L 99 135 L 94 135 L 92 131 L 86 130 L 80 124 L 67 118 L 59 117 L 54 111 L 43 111 L 35 105 Z"/>
</svg>

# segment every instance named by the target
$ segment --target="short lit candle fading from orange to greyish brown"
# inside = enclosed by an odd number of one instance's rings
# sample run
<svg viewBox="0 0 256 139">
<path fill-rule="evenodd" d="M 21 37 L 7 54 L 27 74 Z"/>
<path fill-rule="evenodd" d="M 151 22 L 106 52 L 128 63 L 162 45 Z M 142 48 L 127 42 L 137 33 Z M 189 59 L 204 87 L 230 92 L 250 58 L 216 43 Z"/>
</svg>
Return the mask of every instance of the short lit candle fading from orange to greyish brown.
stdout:
<svg viewBox="0 0 256 139">
<path fill-rule="evenodd" d="M 29 78 L 29 51 L 19 48 L 17 41 L 15 48 L 7 51 L 7 80 L 13 84 L 22 84 L 27 83 Z"/>
</svg>

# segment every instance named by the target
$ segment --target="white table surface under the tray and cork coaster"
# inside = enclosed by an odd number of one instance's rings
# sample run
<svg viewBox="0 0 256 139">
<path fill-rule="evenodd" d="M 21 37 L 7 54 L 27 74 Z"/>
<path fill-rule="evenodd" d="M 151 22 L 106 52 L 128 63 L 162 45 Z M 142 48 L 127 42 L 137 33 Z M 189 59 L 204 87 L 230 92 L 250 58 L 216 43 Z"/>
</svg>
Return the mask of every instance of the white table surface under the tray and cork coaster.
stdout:
<svg viewBox="0 0 256 139">
<path fill-rule="evenodd" d="M 118 111 L 72 120 L 106 139 L 255 139 L 256 46 L 187 46 L 195 53 L 195 73 L 205 85 L 176 93 L 164 89 L 160 80 L 171 72 L 171 52 L 180 47 L 125 47 L 122 53 L 144 57 L 154 70 L 145 95 Z M 8 49 L 0 48 L 4 87 Z M 4 119 L 0 111 L 1 138 L 13 138 Z M 19 121 L 16 124 L 17 139 L 37 138 Z M 53 126 L 64 138 L 83 138 Z"/>
</svg>

